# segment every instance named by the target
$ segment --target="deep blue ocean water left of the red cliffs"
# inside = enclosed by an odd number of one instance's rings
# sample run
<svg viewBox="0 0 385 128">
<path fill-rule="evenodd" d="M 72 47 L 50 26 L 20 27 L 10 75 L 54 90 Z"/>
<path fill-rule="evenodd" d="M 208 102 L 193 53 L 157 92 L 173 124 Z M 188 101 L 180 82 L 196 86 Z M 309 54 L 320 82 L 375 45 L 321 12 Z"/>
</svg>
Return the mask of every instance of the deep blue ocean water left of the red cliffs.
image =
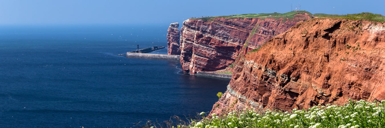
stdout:
<svg viewBox="0 0 385 128">
<path fill-rule="evenodd" d="M 166 33 L 160 25 L 1 26 L 0 127 L 127 128 L 210 111 L 229 80 L 117 55 L 166 46 Z"/>
</svg>

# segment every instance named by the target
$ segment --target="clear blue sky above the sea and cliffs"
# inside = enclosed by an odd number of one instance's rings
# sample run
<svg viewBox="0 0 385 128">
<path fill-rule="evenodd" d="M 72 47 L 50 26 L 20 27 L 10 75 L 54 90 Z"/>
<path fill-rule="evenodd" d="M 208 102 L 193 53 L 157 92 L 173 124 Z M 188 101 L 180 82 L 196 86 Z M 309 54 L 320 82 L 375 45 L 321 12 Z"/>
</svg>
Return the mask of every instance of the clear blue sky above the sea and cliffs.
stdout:
<svg viewBox="0 0 385 128">
<path fill-rule="evenodd" d="M 191 17 L 285 13 L 298 3 L 311 13 L 385 14 L 385 0 L 0 0 L 0 25 L 166 25 Z"/>
</svg>

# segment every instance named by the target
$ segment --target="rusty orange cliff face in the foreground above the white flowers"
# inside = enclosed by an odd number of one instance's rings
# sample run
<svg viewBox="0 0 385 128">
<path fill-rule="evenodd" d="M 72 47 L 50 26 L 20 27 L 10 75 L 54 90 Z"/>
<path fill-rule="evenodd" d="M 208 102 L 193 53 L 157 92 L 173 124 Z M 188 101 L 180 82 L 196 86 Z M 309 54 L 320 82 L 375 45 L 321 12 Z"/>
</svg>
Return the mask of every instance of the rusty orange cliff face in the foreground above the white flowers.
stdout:
<svg viewBox="0 0 385 128">
<path fill-rule="evenodd" d="M 211 113 L 385 100 L 384 26 L 333 18 L 295 25 L 234 66 Z"/>
</svg>

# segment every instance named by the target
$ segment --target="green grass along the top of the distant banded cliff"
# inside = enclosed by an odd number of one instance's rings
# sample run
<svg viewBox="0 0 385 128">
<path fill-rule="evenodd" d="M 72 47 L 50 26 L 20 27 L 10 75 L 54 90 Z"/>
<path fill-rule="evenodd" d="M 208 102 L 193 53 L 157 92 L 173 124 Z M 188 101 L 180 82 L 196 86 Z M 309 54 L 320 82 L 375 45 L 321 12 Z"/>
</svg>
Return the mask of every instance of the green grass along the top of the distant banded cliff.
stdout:
<svg viewBox="0 0 385 128">
<path fill-rule="evenodd" d="M 228 16 L 216 16 L 216 17 L 228 17 L 229 19 L 232 18 L 258 18 L 258 17 L 288 17 L 288 18 L 293 18 L 294 15 L 298 13 L 308 13 L 312 15 L 310 12 L 307 11 L 292 11 L 292 12 L 287 12 L 287 13 L 259 13 L 259 14 L 241 14 L 241 15 L 228 15 Z M 215 17 L 203 17 L 203 18 L 192 18 L 192 20 L 195 19 L 200 19 L 203 21 L 208 21 L 211 20 L 213 21 Z"/>
</svg>

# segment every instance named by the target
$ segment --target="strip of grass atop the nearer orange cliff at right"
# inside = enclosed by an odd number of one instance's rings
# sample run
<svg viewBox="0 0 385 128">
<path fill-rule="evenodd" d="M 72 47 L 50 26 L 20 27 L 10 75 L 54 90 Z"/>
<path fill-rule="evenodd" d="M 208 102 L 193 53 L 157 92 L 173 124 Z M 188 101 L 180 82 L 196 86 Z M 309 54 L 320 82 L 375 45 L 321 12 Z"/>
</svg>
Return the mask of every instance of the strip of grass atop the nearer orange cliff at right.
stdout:
<svg viewBox="0 0 385 128">
<path fill-rule="evenodd" d="M 331 18 L 343 18 L 343 19 L 350 19 L 350 20 L 369 20 L 369 21 L 376 21 L 376 22 L 385 22 L 385 17 L 380 14 L 373 14 L 368 12 L 358 13 L 358 14 L 347 14 L 347 15 L 330 15 L 330 14 L 323 14 L 323 13 L 316 13 L 314 14 L 316 17 L 331 17 Z"/>
</svg>

